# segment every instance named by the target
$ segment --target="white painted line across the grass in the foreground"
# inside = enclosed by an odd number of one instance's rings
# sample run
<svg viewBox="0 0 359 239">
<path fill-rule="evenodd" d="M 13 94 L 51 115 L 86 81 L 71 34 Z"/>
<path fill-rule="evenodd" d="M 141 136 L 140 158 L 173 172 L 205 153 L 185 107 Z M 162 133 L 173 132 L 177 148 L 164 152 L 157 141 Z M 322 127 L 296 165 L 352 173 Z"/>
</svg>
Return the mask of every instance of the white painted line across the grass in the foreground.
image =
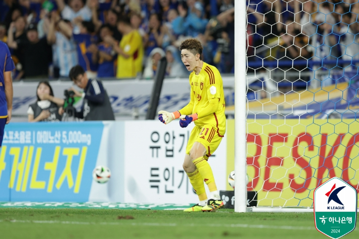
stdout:
<svg viewBox="0 0 359 239">
<path fill-rule="evenodd" d="M 6 222 L 0 220 L 0 222 Z M 9 222 L 20 223 L 47 223 L 47 224 L 80 224 L 80 225 L 123 225 L 123 226 L 185 226 L 185 227 L 198 227 L 198 226 L 210 226 L 210 227 L 245 227 L 245 228 L 263 228 L 263 229 L 286 229 L 286 230 L 315 230 L 314 226 L 271 226 L 271 225 L 250 225 L 250 224 L 176 224 L 176 223 L 120 223 L 120 222 L 77 222 L 77 221 L 38 221 L 38 220 L 9 220 Z"/>
</svg>

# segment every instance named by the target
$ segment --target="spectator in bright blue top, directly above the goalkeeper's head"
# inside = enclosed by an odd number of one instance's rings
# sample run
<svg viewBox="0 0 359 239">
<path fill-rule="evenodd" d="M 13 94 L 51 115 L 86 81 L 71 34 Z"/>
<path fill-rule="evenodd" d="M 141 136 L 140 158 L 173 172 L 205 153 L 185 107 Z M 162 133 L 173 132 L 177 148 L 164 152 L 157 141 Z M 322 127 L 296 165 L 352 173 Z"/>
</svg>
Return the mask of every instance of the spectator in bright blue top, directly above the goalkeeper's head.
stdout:
<svg viewBox="0 0 359 239">
<path fill-rule="evenodd" d="M 196 2 L 192 11 L 179 5 L 178 12 L 179 17 L 172 22 L 175 34 L 196 37 L 199 33 L 204 33 L 208 20 L 203 18 L 204 9 L 201 3 Z"/>
</svg>

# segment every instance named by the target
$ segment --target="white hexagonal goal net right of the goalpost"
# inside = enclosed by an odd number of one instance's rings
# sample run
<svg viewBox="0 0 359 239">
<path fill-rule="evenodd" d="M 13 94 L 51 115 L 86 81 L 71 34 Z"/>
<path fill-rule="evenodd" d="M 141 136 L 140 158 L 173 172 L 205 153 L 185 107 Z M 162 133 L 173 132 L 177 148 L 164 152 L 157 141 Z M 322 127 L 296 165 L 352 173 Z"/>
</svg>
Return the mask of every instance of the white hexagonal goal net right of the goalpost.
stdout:
<svg viewBox="0 0 359 239">
<path fill-rule="evenodd" d="M 247 1 L 247 190 L 258 207 L 310 208 L 332 177 L 359 192 L 358 13 L 356 0 Z"/>
</svg>

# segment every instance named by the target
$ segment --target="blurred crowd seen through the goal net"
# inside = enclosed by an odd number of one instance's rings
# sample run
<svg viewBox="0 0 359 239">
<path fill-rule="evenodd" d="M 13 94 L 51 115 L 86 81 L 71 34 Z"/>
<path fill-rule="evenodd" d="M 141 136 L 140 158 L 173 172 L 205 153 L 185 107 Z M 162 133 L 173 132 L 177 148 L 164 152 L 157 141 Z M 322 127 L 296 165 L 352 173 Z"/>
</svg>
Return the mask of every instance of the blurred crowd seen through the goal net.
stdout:
<svg viewBox="0 0 359 239">
<path fill-rule="evenodd" d="M 345 61 L 359 60 L 357 0 L 250 0 L 247 14 L 248 61 L 278 59 L 282 69 L 293 61 L 298 70 L 315 70 L 324 60 L 322 70 L 328 70 L 352 69 L 357 62 Z"/>
</svg>

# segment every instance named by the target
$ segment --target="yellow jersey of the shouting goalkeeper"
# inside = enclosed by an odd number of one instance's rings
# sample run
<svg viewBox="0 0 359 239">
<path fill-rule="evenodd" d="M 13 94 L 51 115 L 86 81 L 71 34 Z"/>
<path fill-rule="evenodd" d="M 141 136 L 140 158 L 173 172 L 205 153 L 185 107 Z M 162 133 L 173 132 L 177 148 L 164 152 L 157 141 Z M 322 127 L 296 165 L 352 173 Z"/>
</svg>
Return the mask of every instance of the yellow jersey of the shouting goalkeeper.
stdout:
<svg viewBox="0 0 359 239">
<path fill-rule="evenodd" d="M 219 71 L 216 67 L 203 62 L 202 70 L 198 75 L 194 71 L 191 72 L 190 85 L 191 102 L 194 102 L 191 113 L 200 112 L 209 104 L 210 99 L 218 99 L 218 109 L 204 117 L 198 115 L 198 119 L 194 123 L 200 128 L 204 125 L 216 126 L 218 135 L 222 137 L 226 132 L 226 102 L 225 94 L 223 93 L 222 77 Z M 190 112 L 182 112 L 184 109 L 180 111 L 182 114 L 190 114 Z"/>
</svg>

